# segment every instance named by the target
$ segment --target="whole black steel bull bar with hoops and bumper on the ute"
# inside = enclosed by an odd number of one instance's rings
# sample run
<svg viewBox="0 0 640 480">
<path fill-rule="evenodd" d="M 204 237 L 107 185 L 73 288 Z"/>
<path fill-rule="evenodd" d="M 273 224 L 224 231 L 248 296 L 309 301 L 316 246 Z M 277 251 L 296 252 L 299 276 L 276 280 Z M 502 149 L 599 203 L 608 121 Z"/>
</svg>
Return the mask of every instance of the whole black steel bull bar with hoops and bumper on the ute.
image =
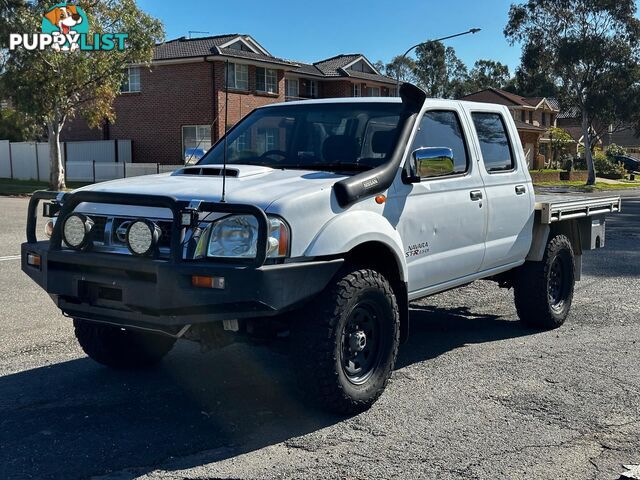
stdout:
<svg viewBox="0 0 640 480">
<path fill-rule="evenodd" d="M 36 239 L 36 209 L 41 200 L 61 203 L 51 241 Z M 322 291 L 342 259 L 265 265 L 267 216 L 258 207 L 198 202 L 171 197 L 106 192 L 60 196 L 36 192 L 29 203 L 27 243 L 22 244 L 22 270 L 48 292 L 68 316 L 116 325 L 177 332 L 185 325 L 274 315 Z M 62 246 L 62 224 L 82 202 L 164 207 L 172 211 L 168 259 L 78 252 Z M 181 218 L 193 212 L 242 213 L 258 221 L 258 251 L 246 264 L 183 259 L 185 227 Z M 40 256 L 40 265 L 27 262 Z M 192 286 L 192 276 L 224 277 L 223 289 Z"/>
</svg>

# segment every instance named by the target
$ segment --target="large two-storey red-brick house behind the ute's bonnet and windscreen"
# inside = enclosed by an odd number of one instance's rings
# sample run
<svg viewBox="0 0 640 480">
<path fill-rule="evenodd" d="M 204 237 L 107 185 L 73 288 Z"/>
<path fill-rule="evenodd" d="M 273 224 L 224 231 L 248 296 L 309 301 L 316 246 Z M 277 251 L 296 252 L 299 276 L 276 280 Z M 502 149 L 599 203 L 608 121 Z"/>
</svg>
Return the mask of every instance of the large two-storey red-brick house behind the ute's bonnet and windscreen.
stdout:
<svg viewBox="0 0 640 480">
<path fill-rule="evenodd" d="M 275 102 L 396 95 L 395 80 L 362 54 L 305 64 L 273 56 L 249 35 L 183 37 L 158 44 L 151 68 L 127 69 L 115 122 L 90 129 L 76 117 L 62 139 L 130 139 L 134 161 L 180 164 L 185 154 L 206 151 L 224 133 L 227 61 L 228 126 Z"/>
</svg>

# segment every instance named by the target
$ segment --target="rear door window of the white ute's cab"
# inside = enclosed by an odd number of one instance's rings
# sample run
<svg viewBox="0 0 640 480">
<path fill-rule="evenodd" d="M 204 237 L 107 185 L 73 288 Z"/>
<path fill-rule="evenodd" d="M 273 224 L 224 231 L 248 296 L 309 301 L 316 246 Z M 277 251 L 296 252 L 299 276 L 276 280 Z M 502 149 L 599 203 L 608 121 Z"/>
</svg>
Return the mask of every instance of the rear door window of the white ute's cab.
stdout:
<svg viewBox="0 0 640 480">
<path fill-rule="evenodd" d="M 471 114 L 478 134 L 484 166 L 489 173 L 513 170 L 513 149 L 507 128 L 499 113 L 475 112 Z"/>
</svg>

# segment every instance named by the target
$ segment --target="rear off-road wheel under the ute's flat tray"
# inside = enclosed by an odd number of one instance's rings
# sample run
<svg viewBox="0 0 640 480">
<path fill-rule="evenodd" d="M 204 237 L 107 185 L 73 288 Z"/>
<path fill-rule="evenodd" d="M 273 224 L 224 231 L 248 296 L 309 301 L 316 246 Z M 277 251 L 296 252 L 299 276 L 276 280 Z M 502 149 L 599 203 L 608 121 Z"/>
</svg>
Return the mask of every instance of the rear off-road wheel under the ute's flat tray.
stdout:
<svg viewBox="0 0 640 480">
<path fill-rule="evenodd" d="M 514 281 L 518 317 L 530 327 L 560 327 L 571 309 L 575 285 L 575 261 L 565 235 L 551 235 L 540 262 L 526 262 Z"/>
</svg>

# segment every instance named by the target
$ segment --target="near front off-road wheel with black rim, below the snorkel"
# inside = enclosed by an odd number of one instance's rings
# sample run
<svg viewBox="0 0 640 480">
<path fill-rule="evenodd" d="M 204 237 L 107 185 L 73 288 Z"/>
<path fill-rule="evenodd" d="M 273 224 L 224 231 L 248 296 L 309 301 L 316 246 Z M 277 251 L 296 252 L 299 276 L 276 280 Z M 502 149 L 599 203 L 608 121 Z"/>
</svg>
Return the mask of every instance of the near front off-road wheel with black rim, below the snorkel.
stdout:
<svg viewBox="0 0 640 480">
<path fill-rule="evenodd" d="M 362 347 L 363 333 L 370 350 L 366 341 Z M 387 279 L 374 270 L 343 270 L 292 318 L 293 367 L 303 394 L 338 414 L 368 409 L 391 377 L 399 340 L 400 314 Z"/>
</svg>

